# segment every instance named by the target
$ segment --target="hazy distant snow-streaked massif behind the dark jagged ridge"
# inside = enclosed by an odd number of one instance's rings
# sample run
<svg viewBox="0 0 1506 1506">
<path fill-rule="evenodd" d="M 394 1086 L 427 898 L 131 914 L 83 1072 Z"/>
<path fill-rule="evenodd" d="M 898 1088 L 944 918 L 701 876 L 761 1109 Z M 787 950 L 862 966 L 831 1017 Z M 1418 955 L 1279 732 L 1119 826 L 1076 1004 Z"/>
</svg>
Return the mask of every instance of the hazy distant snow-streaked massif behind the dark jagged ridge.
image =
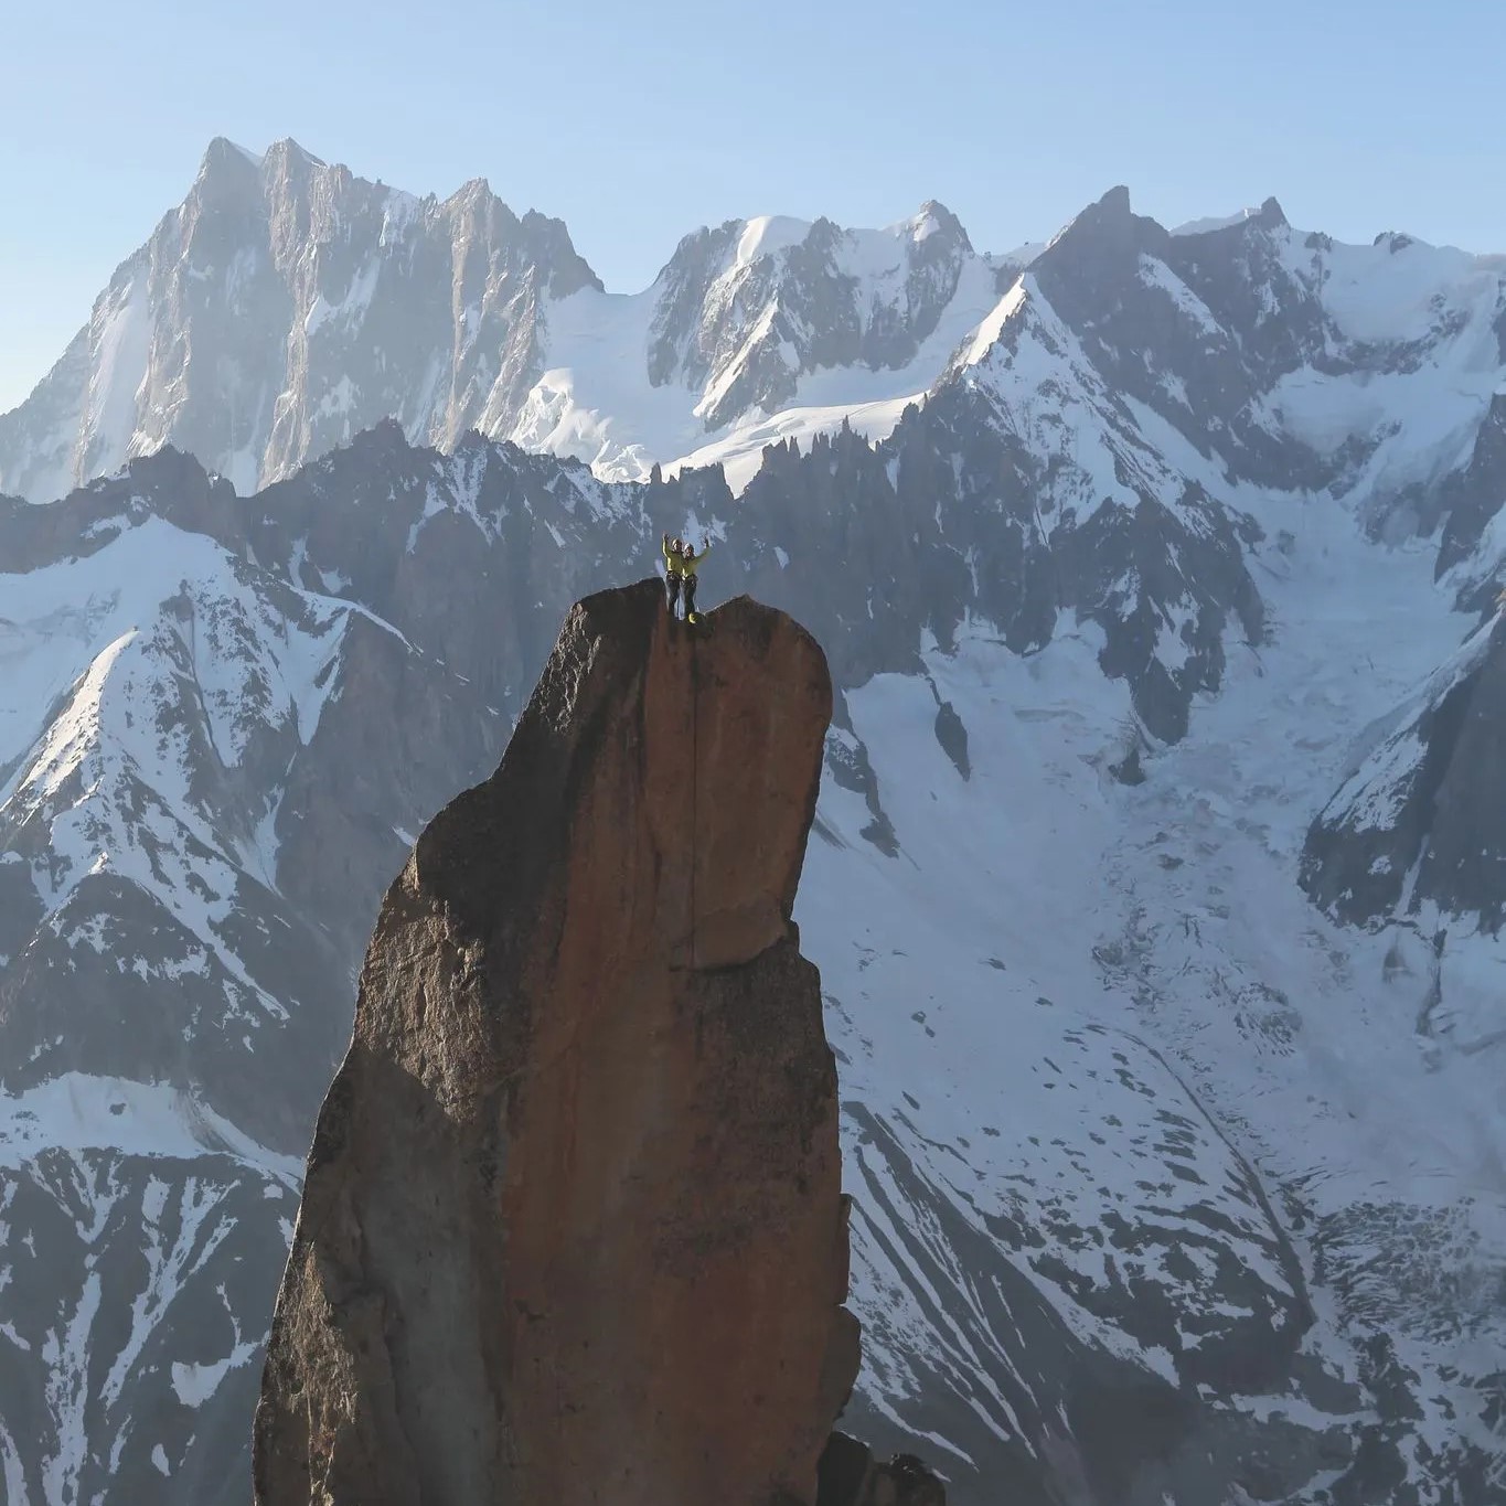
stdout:
<svg viewBox="0 0 1506 1506">
<path fill-rule="evenodd" d="M 780 432 L 870 404 L 893 426 L 1029 253 L 979 256 L 935 203 L 887 230 L 762 217 L 607 294 L 563 224 L 483 181 L 417 199 L 294 142 L 258 158 L 221 139 L 0 416 L 0 491 L 48 501 L 172 444 L 248 494 L 389 417 L 626 479 L 789 408 Z"/>
</svg>

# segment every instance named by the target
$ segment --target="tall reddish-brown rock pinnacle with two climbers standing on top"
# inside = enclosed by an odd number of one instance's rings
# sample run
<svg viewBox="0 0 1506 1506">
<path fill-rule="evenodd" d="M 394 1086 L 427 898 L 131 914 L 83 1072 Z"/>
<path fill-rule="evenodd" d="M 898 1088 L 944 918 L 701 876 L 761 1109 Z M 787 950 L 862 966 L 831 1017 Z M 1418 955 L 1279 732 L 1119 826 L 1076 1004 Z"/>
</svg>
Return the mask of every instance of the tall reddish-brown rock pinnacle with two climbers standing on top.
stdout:
<svg viewBox="0 0 1506 1506">
<path fill-rule="evenodd" d="M 789 920 L 831 685 L 739 598 L 577 605 L 383 905 L 256 1498 L 812 1501 L 857 1370 L 834 1063 Z"/>
</svg>

